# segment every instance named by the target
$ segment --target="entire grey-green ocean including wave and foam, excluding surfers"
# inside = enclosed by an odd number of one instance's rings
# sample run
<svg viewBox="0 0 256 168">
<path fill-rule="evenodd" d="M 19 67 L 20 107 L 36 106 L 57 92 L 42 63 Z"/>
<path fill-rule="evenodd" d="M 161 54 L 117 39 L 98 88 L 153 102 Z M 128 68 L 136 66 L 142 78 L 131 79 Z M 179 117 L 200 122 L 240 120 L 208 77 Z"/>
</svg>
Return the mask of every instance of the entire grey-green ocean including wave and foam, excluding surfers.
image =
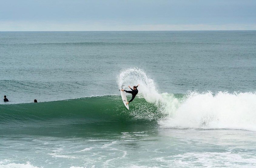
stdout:
<svg viewBox="0 0 256 168">
<path fill-rule="evenodd" d="M 0 32 L 0 167 L 256 167 L 255 46 L 256 31 Z M 137 84 L 127 110 L 118 89 Z"/>
</svg>

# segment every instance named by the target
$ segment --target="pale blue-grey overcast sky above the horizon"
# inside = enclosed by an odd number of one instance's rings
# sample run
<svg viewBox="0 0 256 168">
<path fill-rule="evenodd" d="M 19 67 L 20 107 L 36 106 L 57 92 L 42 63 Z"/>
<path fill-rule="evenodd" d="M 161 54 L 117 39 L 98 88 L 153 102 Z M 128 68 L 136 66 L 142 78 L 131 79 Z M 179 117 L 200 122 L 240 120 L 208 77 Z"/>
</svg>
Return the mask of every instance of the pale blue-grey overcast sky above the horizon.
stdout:
<svg viewBox="0 0 256 168">
<path fill-rule="evenodd" d="M 256 30 L 256 0 L 0 0 L 0 31 Z"/>
</svg>

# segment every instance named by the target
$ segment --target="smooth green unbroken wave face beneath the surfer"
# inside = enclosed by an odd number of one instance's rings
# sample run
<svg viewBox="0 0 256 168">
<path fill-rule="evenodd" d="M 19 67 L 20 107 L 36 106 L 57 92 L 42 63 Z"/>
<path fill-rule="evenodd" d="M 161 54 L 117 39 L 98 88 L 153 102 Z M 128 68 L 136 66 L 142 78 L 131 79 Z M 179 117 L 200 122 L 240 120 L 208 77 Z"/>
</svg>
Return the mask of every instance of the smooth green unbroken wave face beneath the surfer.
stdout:
<svg viewBox="0 0 256 168">
<path fill-rule="evenodd" d="M 1 128 L 57 128 L 76 125 L 155 125 L 163 115 L 157 106 L 136 98 L 130 110 L 121 96 L 97 96 L 53 102 L 0 105 Z"/>
</svg>

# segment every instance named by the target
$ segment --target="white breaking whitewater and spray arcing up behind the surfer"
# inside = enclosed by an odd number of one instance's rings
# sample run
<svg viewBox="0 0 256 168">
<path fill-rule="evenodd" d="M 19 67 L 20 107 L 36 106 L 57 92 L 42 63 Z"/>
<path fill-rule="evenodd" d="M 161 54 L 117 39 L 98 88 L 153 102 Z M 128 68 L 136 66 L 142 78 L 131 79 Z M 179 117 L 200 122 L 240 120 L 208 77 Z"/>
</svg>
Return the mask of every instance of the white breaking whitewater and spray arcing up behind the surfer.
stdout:
<svg viewBox="0 0 256 168">
<path fill-rule="evenodd" d="M 158 122 L 163 128 L 256 131 L 255 92 L 188 92 L 177 99 L 170 93 L 158 93 L 153 79 L 138 68 L 121 72 L 118 83 L 119 86 L 140 83 L 138 95 L 166 114 Z"/>
</svg>

